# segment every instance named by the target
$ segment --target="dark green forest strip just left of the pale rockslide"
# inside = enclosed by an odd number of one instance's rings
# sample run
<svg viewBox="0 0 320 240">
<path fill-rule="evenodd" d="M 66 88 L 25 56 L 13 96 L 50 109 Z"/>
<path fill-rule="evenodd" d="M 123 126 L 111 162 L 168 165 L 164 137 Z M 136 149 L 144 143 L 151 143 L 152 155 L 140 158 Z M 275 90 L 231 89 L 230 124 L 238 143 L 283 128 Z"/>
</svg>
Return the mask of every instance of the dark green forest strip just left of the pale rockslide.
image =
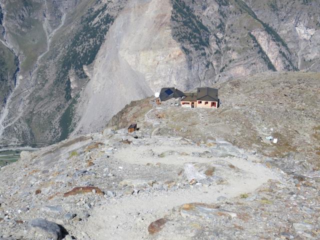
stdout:
<svg viewBox="0 0 320 240">
<path fill-rule="evenodd" d="M 56 85 L 64 85 L 64 98 L 68 106 L 64 110 L 60 120 L 60 136 L 58 141 L 64 140 L 74 129 L 74 108 L 76 98 L 71 98 L 71 82 L 68 72 L 74 70 L 78 78 L 86 78 L 83 65 L 89 65 L 104 42 L 104 37 L 113 23 L 114 17 L 107 12 L 108 5 L 105 4 L 98 9 L 90 8 L 84 16 L 80 18 L 81 26 L 72 36 L 72 40 L 65 47 L 66 52 L 59 62 L 59 71 L 55 79 Z"/>
</svg>

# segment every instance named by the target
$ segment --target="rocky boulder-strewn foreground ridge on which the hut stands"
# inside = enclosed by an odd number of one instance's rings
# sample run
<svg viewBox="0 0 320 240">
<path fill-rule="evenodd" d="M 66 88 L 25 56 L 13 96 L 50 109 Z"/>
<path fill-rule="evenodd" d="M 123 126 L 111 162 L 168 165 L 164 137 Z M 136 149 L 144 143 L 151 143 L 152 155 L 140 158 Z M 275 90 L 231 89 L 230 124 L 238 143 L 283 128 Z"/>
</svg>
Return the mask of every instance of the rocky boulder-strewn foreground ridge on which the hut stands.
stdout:
<svg viewBox="0 0 320 240">
<path fill-rule="evenodd" d="M 314 79 L 318 73 L 217 84 L 222 104 L 213 110 L 147 98 L 150 110 L 138 101 L 115 116 L 123 125 L 136 119 L 134 133 L 110 126 L 22 151 L 21 160 L 0 169 L 0 237 L 318 239 L 319 109 L 307 101 L 316 104 L 319 94 L 303 97 L 309 88 L 318 91 L 318 81 L 309 84 Z M 248 88 L 253 80 L 261 88 Z M 285 100 L 298 95 L 303 112 Z M 261 111 L 266 101 L 283 107 L 282 121 L 275 108 Z M 293 133 L 301 124 L 294 115 L 305 123 L 303 134 Z M 270 134 L 277 143 L 265 138 Z M 300 143 L 305 137 L 310 144 Z"/>
</svg>

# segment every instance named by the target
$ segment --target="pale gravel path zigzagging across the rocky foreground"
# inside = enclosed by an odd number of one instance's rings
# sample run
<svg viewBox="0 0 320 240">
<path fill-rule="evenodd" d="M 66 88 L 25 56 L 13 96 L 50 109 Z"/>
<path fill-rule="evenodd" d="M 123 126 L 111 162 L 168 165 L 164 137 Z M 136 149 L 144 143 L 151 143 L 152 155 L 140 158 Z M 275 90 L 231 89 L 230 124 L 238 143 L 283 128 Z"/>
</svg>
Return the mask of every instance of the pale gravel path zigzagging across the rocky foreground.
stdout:
<svg viewBox="0 0 320 240">
<path fill-rule="evenodd" d="M 169 145 L 170 142 L 167 142 Z M 120 149 L 114 155 L 119 160 L 125 159 L 129 163 L 146 164 L 148 162 L 159 162 L 160 158 L 152 159 L 145 156 L 147 148 L 156 148 L 156 151 L 168 150 L 168 146 L 130 146 Z M 172 149 L 176 147 L 172 144 Z M 202 148 L 205 150 L 206 148 Z M 183 150 L 177 149 L 177 150 Z M 200 147 L 188 147 L 185 151 L 201 150 Z M 140 152 L 140 155 L 138 154 Z M 140 157 L 139 157 L 140 156 Z M 202 159 L 202 160 L 200 160 Z M 163 217 L 166 212 L 175 206 L 189 202 L 213 203 L 218 196 L 227 198 L 238 196 L 244 192 L 252 192 L 268 179 L 279 179 L 277 172 L 266 168 L 261 163 L 254 163 L 255 156 L 250 156 L 248 160 L 241 158 L 199 158 L 190 157 L 185 161 L 173 162 L 163 160 L 164 164 L 181 164 L 186 161 L 195 162 L 221 162 L 231 163 L 239 168 L 240 174 L 230 175 L 227 169 L 218 169 L 219 175 L 227 179 L 226 185 L 211 185 L 209 187 L 194 187 L 190 189 L 179 188 L 176 191 L 151 191 L 150 193 L 138 194 L 138 196 L 124 196 L 120 199 L 106 200 L 103 205 L 97 207 L 92 212 L 88 222 L 83 226 L 83 232 L 86 232 L 92 239 L 142 239 L 146 236 L 147 226 L 150 222 Z M 84 236 L 85 239 L 87 236 Z"/>
</svg>

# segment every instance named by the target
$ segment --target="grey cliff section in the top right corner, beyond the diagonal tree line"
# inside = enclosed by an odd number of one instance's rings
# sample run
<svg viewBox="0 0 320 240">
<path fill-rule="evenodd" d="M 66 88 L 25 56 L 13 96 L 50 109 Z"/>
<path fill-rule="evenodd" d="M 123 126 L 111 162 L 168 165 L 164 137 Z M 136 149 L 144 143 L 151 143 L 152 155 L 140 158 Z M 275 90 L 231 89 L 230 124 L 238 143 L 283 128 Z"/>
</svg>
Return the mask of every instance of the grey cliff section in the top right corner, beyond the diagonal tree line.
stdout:
<svg viewBox="0 0 320 240">
<path fill-rule="evenodd" d="M 248 4 L 285 41 L 299 70 L 319 70 L 319 1 L 251 0 Z"/>
</svg>

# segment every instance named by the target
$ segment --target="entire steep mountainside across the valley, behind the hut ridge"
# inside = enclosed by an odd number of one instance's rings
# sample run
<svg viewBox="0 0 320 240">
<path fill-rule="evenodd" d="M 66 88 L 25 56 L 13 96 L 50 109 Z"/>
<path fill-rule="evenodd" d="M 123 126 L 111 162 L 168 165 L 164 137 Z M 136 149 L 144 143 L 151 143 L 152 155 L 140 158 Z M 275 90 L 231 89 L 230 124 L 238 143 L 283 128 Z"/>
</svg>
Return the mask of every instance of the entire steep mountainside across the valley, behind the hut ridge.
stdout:
<svg viewBox="0 0 320 240">
<path fill-rule="evenodd" d="M 0 0 L 2 145 L 102 129 L 162 86 L 318 71 L 319 12 L 310 0 Z"/>
</svg>

